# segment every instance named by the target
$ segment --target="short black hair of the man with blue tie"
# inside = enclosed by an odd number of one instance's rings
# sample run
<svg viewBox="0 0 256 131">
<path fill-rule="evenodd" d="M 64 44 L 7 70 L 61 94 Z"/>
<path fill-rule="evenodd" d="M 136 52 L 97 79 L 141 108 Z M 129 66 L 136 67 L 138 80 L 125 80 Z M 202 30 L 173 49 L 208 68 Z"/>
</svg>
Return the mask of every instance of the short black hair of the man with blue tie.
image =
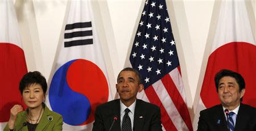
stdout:
<svg viewBox="0 0 256 131">
<path fill-rule="evenodd" d="M 242 91 L 243 88 L 245 88 L 245 80 L 243 79 L 241 74 L 236 73 L 232 70 L 223 69 L 223 70 L 218 71 L 218 73 L 216 73 L 216 75 L 214 77 L 215 87 L 216 87 L 217 92 L 218 92 L 218 84 L 220 83 L 220 79 L 223 77 L 232 77 L 232 78 L 236 79 L 236 82 L 238 83 L 240 92 Z M 242 102 L 242 98 L 241 98 L 241 102 Z"/>
</svg>

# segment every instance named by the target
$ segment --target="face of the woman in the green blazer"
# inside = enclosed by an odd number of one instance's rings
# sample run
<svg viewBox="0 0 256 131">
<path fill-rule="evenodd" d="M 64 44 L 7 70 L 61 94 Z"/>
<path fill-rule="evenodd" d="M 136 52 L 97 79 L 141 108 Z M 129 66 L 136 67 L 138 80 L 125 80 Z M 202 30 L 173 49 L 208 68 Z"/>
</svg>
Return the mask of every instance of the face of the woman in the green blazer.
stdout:
<svg viewBox="0 0 256 131">
<path fill-rule="evenodd" d="M 30 84 L 22 92 L 22 98 L 28 108 L 39 108 L 44 102 L 43 88 L 38 83 Z"/>
</svg>

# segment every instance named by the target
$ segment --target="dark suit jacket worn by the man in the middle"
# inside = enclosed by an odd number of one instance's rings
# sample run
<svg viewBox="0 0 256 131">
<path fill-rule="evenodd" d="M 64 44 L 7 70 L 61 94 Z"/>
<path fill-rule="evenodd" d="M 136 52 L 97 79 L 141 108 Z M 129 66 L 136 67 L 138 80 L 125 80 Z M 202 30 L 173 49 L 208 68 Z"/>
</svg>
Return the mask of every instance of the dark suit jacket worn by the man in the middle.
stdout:
<svg viewBox="0 0 256 131">
<path fill-rule="evenodd" d="M 121 130 L 120 126 L 120 99 L 112 100 L 108 103 L 101 104 L 96 108 L 93 131 L 108 131 L 112 125 L 112 130 Z M 160 108 L 154 104 L 137 99 L 134 110 L 133 131 L 158 131 L 162 130 Z"/>
</svg>

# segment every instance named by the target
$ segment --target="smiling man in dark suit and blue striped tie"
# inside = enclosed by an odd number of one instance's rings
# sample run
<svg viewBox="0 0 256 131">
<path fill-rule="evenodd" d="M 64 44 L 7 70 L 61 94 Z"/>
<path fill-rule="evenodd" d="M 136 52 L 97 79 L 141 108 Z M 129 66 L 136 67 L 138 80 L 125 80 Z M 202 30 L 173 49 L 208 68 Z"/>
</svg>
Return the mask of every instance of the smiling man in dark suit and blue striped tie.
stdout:
<svg viewBox="0 0 256 131">
<path fill-rule="evenodd" d="M 242 104 L 245 81 L 241 74 L 221 70 L 214 78 L 220 105 L 200 112 L 198 131 L 255 131 L 256 108 Z"/>
</svg>

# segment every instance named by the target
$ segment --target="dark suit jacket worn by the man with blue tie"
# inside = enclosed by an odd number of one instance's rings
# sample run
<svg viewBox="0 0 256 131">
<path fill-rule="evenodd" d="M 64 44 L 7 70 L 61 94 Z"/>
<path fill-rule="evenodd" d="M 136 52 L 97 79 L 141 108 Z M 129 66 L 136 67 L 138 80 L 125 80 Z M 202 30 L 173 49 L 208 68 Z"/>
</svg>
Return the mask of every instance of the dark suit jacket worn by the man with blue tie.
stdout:
<svg viewBox="0 0 256 131">
<path fill-rule="evenodd" d="M 200 112 L 197 131 L 229 131 L 222 105 L 204 109 Z M 256 130 L 256 108 L 240 104 L 234 131 Z"/>
</svg>

